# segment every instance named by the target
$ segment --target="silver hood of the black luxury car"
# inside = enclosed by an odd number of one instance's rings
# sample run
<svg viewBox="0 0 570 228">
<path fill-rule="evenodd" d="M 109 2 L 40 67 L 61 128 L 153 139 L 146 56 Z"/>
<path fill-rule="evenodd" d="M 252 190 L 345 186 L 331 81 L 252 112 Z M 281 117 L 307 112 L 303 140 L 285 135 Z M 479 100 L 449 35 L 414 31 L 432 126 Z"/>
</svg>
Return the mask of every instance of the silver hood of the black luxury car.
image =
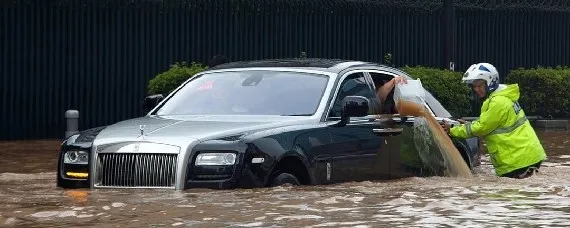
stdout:
<svg viewBox="0 0 570 228">
<path fill-rule="evenodd" d="M 145 116 L 106 127 L 94 144 L 147 141 L 184 147 L 195 140 L 314 122 L 317 121 L 309 117 L 295 116 Z"/>
</svg>

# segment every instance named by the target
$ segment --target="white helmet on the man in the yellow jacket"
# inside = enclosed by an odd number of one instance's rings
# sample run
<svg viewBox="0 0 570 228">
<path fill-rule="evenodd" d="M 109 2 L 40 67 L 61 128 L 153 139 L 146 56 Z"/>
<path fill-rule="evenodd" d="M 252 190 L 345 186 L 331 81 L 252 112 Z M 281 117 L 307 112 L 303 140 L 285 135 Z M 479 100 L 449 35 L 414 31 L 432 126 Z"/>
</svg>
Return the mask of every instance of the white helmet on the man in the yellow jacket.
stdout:
<svg viewBox="0 0 570 228">
<path fill-rule="evenodd" d="M 471 84 L 474 80 L 482 79 L 487 81 L 487 89 L 492 92 L 499 88 L 499 72 L 489 63 L 477 63 L 469 67 L 461 81 Z"/>
</svg>

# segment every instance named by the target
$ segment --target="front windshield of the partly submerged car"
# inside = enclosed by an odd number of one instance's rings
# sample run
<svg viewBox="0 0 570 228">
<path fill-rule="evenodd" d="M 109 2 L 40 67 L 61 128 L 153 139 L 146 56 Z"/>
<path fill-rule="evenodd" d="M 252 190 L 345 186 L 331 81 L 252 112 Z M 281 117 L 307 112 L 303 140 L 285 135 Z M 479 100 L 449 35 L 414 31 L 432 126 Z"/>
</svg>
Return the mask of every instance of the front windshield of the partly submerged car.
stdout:
<svg viewBox="0 0 570 228">
<path fill-rule="evenodd" d="M 220 72 L 197 76 L 157 115 L 313 115 L 328 76 L 280 71 Z"/>
</svg>

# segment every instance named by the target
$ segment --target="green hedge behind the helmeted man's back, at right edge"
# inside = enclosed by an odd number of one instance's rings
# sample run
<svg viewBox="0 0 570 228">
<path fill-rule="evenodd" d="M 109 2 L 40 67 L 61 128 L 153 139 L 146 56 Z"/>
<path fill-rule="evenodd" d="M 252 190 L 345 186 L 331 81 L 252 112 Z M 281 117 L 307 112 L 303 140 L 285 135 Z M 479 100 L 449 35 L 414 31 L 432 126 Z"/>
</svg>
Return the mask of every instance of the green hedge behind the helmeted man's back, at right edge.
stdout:
<svg viewBox="0 0 570 228">
<path fill-rule="evenodd" d="M 570 116 L 570 67 L 514 69 L 505 82 L 519 84 L 519 103 L 527 115 Z"/>
</svg>

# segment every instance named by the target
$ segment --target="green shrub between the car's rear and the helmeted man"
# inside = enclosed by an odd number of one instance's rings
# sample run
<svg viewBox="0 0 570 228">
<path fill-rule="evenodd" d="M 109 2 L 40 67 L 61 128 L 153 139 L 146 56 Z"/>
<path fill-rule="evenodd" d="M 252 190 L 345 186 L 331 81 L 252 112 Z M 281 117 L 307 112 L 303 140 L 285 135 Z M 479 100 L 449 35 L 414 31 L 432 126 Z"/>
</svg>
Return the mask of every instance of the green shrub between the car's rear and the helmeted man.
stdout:
<svg viewBox="0 0 570 228">
<path fill-rule="evenodd" d="M 420 78 L 428 90 L 454 117 L 471 116 L 469 87 L 461 82 L 462 73 L 423 66 L 402 67 L 414 79 Z"/>
</svg>

